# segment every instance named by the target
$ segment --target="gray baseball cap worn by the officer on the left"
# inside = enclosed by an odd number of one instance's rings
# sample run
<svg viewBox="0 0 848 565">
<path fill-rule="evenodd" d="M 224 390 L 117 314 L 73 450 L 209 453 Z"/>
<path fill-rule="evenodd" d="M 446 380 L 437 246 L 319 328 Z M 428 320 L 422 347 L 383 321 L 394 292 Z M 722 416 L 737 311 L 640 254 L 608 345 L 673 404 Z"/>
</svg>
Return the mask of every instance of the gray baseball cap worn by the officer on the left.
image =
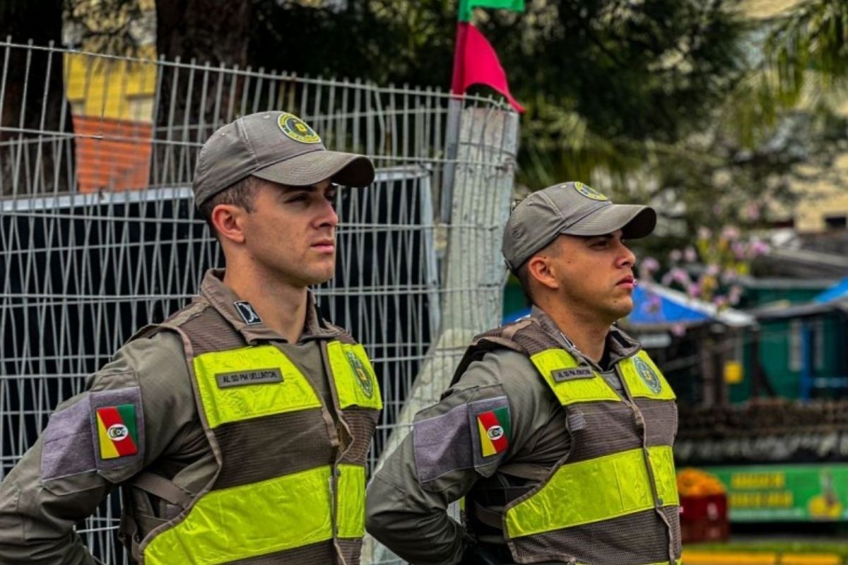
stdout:
<svg viewBox="0 0 848 565">
<path fill-rule="evenodd" d="M 195 205 L 250 175 L 288 186 L 330 179 L 361 187 L 374 181 L 374 165 L 364 155 L 327 151 L 315 130 L 294 114 L 249 114 L 204 143 L 194 170 Z"/>
</svg>

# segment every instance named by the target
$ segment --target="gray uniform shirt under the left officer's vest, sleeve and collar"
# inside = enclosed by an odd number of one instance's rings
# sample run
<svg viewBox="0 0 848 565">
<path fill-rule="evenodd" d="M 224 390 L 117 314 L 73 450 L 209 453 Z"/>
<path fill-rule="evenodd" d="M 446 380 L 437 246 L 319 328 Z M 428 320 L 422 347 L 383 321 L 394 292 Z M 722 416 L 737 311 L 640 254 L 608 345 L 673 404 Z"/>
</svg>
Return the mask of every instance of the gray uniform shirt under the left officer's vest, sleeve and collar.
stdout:
<svg viewBox="0 0 848 565">
<path fill-rule="evenodd" d="M 234 306 L 239 299 L 220 281 L 222 275 L 222 271 L 206 274 L 203 299 L 248 342 L 279 344 L 310 379 L 324 405 L 332 407 L 320 344 L 313 339 L 326 330 L 319 323 L 311 296 L 304 334 L 298 343 L 289 344 L 265 324 L 245 324 Z M 121 347 L 112 361 L 89 378 L 85 392 L 59 404 L 47 429 L 0 483 L 0 563 L 96 563 L 75 534 L 74 525 L 92 515 L 116 485 L 142 469 L 171 479 L 191 493 L 209 483 L 217 463 L 200 424 L 190 378 L 180 336 L 165 331 Z M 97 468 L 89 464 L 85 459 L 96 454 L 98 446 L 87 424 L 90 409 L 86 402 L 92 395 L 133 387 L 137 387 L 143 413 L 140 456 L 127 458 L 125 466 Z M 332 416 L 335 421 L 335 413 Z M 74 430 L 78 433 L 70 434 Z M 164 512 L 164 507 L 159 508 Z"/>
</svg>

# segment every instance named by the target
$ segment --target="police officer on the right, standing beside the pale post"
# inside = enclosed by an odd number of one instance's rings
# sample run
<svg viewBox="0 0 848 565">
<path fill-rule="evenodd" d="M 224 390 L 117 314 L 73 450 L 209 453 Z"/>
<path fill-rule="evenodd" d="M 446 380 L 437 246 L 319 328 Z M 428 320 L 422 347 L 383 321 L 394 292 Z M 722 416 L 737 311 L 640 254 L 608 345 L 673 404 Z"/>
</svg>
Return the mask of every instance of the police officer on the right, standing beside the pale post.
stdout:
<svg viewBox="0 0 848 565">
<path fill-rule="evenodd" d="M 678 562 L 674 394 L 614 325 L 633 309 L 625 241 L 655 224 L 579 182 L 515 208 L 503 253 L 532 313 L 478 335 L 416 414 L 369 486 L 371 535 L 416 565 Z M 445 513 L 460 497 L 465 528 Z"/>
</svg>

